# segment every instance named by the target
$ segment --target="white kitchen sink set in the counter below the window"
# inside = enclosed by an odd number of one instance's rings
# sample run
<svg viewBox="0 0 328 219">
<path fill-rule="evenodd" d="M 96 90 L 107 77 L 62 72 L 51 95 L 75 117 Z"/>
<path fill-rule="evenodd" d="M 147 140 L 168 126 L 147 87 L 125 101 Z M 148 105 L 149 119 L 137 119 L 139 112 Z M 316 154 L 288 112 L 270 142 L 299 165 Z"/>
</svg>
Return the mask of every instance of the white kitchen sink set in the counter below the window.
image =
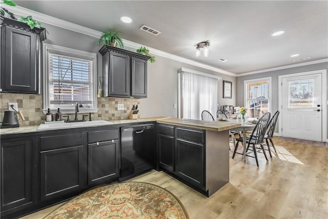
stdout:
<svg viewBox="0 0 328 219">
<path fill-rule="evenodd" d="M 51 130 L 51 129 L 69 129 L 78 127 L 90 127 L 90 126 L 104 126 L 113 124 L 105 120 L 86 121 L 79 123 L 53 123 L 53 124 L 40 124 L 37 130 Z"/>
</svg>

